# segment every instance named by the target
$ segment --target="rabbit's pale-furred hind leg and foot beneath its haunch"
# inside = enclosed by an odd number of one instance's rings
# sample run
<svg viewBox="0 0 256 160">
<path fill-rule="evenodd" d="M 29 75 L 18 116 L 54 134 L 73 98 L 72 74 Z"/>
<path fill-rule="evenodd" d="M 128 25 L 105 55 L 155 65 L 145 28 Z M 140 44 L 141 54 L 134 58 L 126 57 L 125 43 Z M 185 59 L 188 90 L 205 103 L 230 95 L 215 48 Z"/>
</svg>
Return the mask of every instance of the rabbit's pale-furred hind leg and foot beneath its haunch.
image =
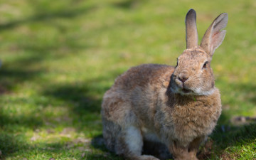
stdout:
<svg viewBox="0 0 256 160">
<path fill-rule="evenodd" d="M 126 127 L 117 137 L 115 151 L 125 159 L 132 160 L 159 160 L 154 156 L 142 155 L 143 138 L 139 128 Z"/>
</svg>

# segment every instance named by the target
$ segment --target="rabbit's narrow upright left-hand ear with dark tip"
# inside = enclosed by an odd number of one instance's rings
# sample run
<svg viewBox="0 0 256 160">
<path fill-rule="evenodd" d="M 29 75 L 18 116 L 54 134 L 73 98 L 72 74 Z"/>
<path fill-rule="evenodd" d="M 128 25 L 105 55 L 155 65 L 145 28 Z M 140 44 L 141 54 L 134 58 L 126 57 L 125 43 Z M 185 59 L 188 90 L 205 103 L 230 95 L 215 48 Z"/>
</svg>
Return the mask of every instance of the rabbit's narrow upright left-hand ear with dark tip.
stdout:
<svg viewBox="0 0 256 160">
<path fill-rule="evenodd" d="M 196 11 L 190 9 L 186 14 L 186 48 L 198 46 L 198 32 L 196 29 Z"/>
</svg>

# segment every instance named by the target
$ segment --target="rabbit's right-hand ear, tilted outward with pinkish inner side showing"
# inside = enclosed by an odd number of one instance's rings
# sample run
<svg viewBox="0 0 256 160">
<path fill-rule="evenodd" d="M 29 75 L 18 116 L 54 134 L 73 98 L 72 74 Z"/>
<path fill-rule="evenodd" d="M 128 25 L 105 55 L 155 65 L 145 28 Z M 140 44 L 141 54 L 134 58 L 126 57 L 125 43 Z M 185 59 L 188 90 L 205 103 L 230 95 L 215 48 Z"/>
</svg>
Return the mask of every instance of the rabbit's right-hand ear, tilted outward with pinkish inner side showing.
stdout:
<svg viewBox="0 0 256 160">
<path fill-rule="evenodd" d="M 227 23 L 228 14 L 220 14 L 220 16 L 215 18 L 204 34 L 201 41 L 201 48 L 206 50 L 206 53 L 208 53 L 210 56 L 213 56 L 215 49 L 218 48 L 218 46 L 220 46 L 222 43 L 225 37 L 225 30 L 222 29 L 227 26 Z"/>
</svg>

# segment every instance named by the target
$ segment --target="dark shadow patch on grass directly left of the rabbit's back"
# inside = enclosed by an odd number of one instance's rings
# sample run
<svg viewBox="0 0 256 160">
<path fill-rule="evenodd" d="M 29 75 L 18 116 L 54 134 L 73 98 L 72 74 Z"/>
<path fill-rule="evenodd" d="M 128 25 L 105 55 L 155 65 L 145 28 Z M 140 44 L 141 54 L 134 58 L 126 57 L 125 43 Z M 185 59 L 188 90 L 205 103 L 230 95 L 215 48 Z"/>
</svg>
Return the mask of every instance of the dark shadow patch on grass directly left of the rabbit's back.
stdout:
<svg viewBox="0 0 256 160">
<path fill-rule="evenodd" d="M 114 82 L 121 73 L 113 71 L 85 82 L 51 84 L 44 88 L 42 95 L 62 100 L 71 105 L 71 111 L 78 116 L 100 114 L 103 94 L 110 89 L 106 82 Z"/>
</svg>

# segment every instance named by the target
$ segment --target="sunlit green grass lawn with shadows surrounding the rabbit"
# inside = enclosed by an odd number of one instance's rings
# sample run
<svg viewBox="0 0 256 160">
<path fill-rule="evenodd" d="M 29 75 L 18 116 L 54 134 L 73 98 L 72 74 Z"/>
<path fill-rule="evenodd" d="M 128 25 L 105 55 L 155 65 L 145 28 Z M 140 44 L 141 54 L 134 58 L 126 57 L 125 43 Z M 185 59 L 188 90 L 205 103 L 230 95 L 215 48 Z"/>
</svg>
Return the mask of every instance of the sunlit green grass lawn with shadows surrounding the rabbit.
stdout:
<svg viewBox="0 0 256 160">
<path fill-rule="evenodd" d="M 121 159 L 102 144 L 100 103 L 117 75 L 176 64 L 184 18 L 203 36 L 229 14 L 211 64 L 223 113 L 207 159 L 256 159 L 256 3 L 247 1 L 1 1 L 0 159 Z"/>
</svg>

